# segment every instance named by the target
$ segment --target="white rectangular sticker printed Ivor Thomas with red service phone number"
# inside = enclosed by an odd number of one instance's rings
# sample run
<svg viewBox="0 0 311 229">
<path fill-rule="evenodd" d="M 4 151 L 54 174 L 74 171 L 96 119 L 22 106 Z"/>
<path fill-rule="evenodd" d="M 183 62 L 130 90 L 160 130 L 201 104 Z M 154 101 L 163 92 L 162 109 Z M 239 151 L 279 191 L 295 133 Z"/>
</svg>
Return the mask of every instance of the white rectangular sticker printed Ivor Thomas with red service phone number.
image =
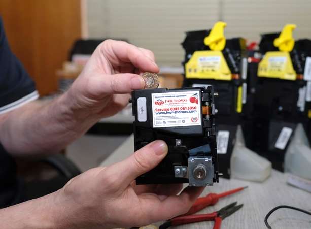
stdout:
<svg viewBox="0 0 311 229">
<path fill-rule="evenodd" d="M 200 90 L 153 93 L 153 127 L 201 125 Z"/>
</svg>

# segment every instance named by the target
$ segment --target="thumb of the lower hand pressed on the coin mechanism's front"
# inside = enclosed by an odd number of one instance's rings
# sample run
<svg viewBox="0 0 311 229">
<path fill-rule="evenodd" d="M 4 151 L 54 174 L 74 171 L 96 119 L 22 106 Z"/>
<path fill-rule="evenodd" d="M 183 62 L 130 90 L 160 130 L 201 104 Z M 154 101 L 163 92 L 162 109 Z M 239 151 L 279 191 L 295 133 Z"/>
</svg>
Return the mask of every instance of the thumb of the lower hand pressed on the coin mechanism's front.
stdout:
<svg viewBox="0 0 311 229">
<path fill-rule="evenodd" d="M 167 145 L 162 140 L 156 140 L 134 152 L 130 157 L 120 162 L 124 170 L 123 183 L 128 185 L 138 176 L 152 170 L 167 155 Z"/>
</svg>

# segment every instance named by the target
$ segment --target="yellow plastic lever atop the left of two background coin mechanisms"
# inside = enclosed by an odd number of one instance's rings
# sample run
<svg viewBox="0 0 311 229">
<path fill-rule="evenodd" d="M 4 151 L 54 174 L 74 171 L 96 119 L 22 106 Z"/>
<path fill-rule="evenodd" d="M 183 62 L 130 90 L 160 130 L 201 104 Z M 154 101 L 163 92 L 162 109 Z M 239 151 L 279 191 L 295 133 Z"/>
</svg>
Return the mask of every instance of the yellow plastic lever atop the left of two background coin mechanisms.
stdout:
<svg viewBox="0 0 311 229">
<path fill-rule="evenodd" d="M 218 21 L 212 28 L 209 36 L 204 38 L 204 44 L 208 45 L 213 51 L 221 51 L 226 45 L 226 38 L 224 36 L 224 28 L 227 23 Z"/>
</svg>

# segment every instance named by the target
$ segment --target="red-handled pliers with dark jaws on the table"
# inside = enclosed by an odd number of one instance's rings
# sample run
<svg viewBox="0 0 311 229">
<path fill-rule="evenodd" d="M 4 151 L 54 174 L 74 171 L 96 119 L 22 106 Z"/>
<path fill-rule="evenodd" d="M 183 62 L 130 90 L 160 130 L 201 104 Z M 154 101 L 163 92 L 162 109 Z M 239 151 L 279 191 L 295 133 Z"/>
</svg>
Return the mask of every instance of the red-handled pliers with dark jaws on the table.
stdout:
<svg viewBox="0 0 311 229">
<path fill-rule="evenodd" d="M 221 222 L 229 215 L 232 215 L 234 212 L 243 207 L 243 204 L 237 205 L 237 202 L 229 204 L 219 211 L 209 213 L 209 214 L 199 214 L 199 215 L 183 215 L 172 218 L 165 223 L 163 223 L 159 229 L 166 229 L 170 226 L 183 225 L 193 222 L 202 222 L 202 221 L 215 221 L 214 229 L 220 229 Z"/>
</svg>

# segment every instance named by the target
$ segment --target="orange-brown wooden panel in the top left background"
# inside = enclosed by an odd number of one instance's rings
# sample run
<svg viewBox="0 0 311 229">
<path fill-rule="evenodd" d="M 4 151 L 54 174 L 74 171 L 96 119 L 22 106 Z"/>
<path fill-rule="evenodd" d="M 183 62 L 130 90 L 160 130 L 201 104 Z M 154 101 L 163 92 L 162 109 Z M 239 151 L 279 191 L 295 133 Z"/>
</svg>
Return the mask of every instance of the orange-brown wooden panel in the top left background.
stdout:
<svg viewBox="0 0 311 229">
<path fill-rule="evenodd" d="M 81 38 L 80 0 L 1 0 L 11 49 L 36 81 L 41 95 L 57 89 L 56 69 Z"/>
</svg>

